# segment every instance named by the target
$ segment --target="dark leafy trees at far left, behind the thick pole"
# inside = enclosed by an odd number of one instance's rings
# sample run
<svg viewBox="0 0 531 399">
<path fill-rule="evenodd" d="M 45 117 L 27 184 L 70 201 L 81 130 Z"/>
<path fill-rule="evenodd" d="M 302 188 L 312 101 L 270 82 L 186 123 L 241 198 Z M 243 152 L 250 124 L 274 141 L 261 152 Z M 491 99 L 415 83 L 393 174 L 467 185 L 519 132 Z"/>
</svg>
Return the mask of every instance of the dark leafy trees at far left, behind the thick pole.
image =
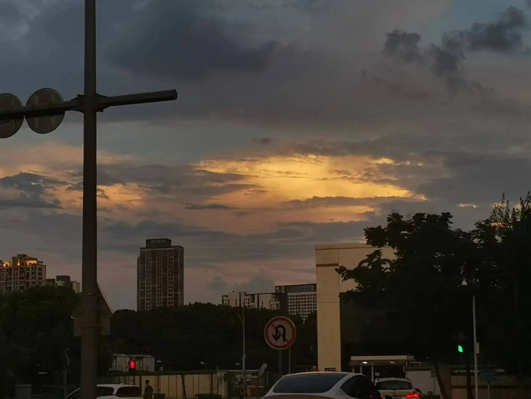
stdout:
<svg viewBox="0 0 531 399">
<path fill-rule="evenodd" d="M 39 372 L 52 382 L 64 366 L 64 352 L 71 361 L 69 379 L 79 377 L 80 340 L 73 336 L 72 313 L 79 295 L 68 287 L 36 286 L 0 296 L 0 380 L 14 375 L 22 383 L 41 384 Z M 99 371 L 108 370 L 111 349 L 99 345 Z M 2 394 L 5 390 L 2 390 Z"/>
</svg>

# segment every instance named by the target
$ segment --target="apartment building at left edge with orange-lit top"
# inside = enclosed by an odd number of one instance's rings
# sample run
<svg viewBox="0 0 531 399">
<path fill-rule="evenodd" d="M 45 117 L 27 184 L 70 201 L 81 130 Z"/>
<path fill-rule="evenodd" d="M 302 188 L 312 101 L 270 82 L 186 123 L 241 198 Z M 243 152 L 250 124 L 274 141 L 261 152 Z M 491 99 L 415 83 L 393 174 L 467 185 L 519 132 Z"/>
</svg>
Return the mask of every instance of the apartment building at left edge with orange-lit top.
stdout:
<svg viewBox="0 0 531 399">
<path fill-rule="evenodd" d="M 45 285 L 46 265 L 36 257 L 17 254 L 11 262 L 0 261 L 0 293 Z"/>
</svg>

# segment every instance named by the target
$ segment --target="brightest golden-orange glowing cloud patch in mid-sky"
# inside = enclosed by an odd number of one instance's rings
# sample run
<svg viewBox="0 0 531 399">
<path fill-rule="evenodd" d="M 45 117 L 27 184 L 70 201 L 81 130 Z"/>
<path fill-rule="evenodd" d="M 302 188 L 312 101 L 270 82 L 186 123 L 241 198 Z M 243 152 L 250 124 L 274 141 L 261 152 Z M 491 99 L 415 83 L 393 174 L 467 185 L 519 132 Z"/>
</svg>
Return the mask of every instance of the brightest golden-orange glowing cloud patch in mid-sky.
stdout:
<svg viewBox="0 0 531 399">
<path fill-rule="evenodd" d="M 344 178 L 344 170 L 374 169 L 392 160 L 369 157 L 272 157 L 263 160 L 212 160 L 198 167 L 221 173 L 246 176 L 248 184 L 258 189 L 228 193 L 211 198 L 212 202 L 238 207 L 271 206 L 291 200 L 312 197 L 415 197 L 415 193 L 391 184 L 378 184 L 357 179 L 356 174 Z"/>
</svg>

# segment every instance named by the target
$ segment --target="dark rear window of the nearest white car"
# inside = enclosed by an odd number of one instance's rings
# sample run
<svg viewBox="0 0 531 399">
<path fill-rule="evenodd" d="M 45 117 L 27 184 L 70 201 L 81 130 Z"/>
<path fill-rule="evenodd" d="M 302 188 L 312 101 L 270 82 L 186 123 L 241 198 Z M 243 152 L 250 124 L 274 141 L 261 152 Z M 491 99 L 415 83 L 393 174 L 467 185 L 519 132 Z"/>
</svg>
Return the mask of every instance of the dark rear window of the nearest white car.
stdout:
<svg viewBox="0 0 531 399">
<path fill-rule="evenodd" d="M 295 374 L 278 381 L 273 392 L 276 394 L 320 394 L 332 389 L 345 373 Z"/>
</svg>

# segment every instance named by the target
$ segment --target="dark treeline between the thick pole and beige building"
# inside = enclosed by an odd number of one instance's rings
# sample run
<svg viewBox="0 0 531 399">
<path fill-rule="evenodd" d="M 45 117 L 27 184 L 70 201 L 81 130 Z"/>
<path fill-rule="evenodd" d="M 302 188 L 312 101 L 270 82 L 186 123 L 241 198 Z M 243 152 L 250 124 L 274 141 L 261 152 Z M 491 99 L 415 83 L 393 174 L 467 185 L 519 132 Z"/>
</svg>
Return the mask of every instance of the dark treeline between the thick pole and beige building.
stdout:
<svg viewBox="0 0 531 399">
<path fill-rule="evenodd" d="M 280 314 L 283 313 L 266 309 L 245 310 L 248 369 L 267 363 L 276 371 L 278 352 L 265 343 L 264 327 L 269 319 Z M 238 369 L 242 363 L 243 334 L 238 316 L 242 316 L 241 308 L 209 303 L 143 312 L 121 310 L 114 314 L 110 338 L 115 352 L 149 353 L 164 362 L 165 369 Z M 297 327 L 292 364 L 315 365 L 315 315 L 310 315 L 306 322 L 293 315 L 290 319 Z"/>
</svg>

